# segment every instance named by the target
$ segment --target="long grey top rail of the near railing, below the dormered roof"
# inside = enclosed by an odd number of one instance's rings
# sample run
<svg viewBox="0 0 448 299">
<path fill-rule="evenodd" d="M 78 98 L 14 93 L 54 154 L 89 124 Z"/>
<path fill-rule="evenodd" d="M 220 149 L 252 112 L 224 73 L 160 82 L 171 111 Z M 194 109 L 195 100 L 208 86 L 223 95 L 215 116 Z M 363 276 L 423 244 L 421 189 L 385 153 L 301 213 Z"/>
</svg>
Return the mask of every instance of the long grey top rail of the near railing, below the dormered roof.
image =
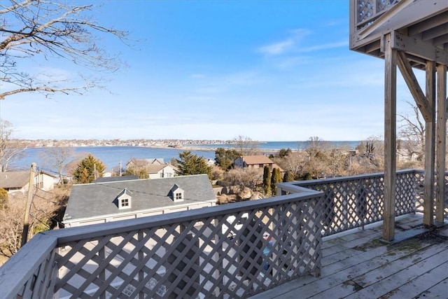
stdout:
<svg viewBox="0 0 448 299">
<path fill-rule="evenodd" d="M 78 239 L 89 239 L 100 237 L 103 235 L 120 234 L 121 232 L 128 232 L 131 230 L 160 227 L 163 225 L 170 225 L 172 223 L 192 221 L 201 218 L 218 217 L 225 214 L 238 213 L 244 210 L 262 209 L 272 205 L 307 200 L 321 194 L 320 191 L 309 190 L 301 187 L 297 188 L 297 193 L 299 194 L 295 193 L 290 195 L 269 197 L 256 201 L 251 200 L 246 202 L 235 202 L 232 204 L 224 204 L 216 207 L 204 207 L 201 209 L 193 209 L 189 211 L 178 211 L 169 213 L 169 217 L 167 217 L 167 214 L 162 214 L 124 221 L 112 221 L 108 223 L 85 225 L 75 228 L 64 228 L 62 230 L 48 230 L 45 232 L 41 232 L 41 234 L 56 237 L 58 246 L 63 246 L 67 242 L 75 241 Z"/>
</svg>

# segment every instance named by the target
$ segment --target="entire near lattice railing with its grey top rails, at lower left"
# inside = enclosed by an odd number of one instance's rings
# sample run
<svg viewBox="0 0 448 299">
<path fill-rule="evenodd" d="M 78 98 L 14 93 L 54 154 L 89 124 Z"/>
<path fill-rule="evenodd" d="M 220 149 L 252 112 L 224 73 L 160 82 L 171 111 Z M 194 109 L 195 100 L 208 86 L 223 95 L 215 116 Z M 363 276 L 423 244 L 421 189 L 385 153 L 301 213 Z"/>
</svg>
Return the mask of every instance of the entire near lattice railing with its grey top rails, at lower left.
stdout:
<svg viewBox="0 0 448 299">
<path fill-rule="evenodd" d="M 322 195 L 43 232 L 0 267 L 0 298 L 245 298 L 318 275 Z"/>
</svg>

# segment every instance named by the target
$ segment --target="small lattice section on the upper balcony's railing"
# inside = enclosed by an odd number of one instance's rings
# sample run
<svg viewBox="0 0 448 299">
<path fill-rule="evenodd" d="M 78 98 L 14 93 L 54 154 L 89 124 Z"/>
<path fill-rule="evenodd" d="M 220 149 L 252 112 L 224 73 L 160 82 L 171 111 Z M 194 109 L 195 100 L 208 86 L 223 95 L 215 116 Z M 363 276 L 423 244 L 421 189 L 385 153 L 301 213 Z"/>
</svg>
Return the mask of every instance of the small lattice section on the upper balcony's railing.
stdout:
<svg viewBox="0 0 448 299">
<path fill-rule="evenodd" d="M 400 0 L 356 0 L 356 29 L 361 29 L 377 20 Z"/>
</svg>

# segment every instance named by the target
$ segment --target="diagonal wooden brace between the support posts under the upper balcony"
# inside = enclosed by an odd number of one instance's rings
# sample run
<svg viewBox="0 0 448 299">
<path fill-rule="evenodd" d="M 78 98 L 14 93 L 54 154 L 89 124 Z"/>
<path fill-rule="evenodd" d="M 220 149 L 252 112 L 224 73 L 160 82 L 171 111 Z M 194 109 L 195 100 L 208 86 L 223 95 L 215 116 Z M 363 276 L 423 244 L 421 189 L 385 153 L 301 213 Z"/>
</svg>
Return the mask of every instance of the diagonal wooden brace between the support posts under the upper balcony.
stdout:
<svg viewBox="0 0 448 299">
<path fill-rule="evenodd" d="M 419 81 L 417 81 L 414 71 L 412 71 L 411 64 L 407 61 L 405 53 L 398 51 L 398 68 L 401 71 L 403 78 L 409 88 L 409 91 L 412 94 L 412 97 L 415 99 L 416 105 L 419 107 L 421 115 L 423 116 L 425 121 L 430 121 L 432 118 L 432 110 L 430 104 L 426 100 L 425 95 L 421 91 Z"/>
</svg>

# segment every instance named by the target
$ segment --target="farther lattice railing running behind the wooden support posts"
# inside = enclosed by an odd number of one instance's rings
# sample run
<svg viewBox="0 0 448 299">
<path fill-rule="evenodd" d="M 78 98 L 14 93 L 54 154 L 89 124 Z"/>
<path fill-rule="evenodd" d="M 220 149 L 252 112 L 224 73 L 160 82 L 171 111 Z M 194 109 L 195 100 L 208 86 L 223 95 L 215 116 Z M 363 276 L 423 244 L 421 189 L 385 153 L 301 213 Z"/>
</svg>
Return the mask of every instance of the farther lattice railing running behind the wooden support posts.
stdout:
<svg viewBox="0 0 448 299">
<path fill-rule="evenodd" d="M 423 212 L 423 180 L 423 171 L 412 169 L 397 172 L 395 216 Z M 382 173 L 280 183 L 277 190 L 279 194 L 293 193 L 297 186 L 323 191 L 323 236 L 383 220 Z M 448 216 L 447 205 L 444 214 Z"/>
</svg>

